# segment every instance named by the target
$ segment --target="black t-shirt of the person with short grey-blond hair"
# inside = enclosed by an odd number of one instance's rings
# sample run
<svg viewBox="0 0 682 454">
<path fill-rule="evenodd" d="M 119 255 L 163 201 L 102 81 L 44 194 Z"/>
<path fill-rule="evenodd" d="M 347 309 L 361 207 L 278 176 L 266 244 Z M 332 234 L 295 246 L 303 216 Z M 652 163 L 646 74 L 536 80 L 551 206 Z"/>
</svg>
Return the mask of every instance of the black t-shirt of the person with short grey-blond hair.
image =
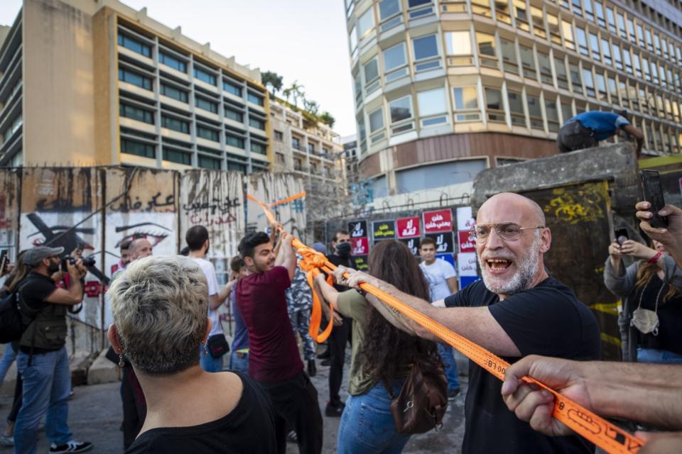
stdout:
<svg viewBox="0 0 682 454">
<path fill-rule="evenodd" d="M 198 426 L 153 428 L 141 434 L 126 454 L 276 453 L 275 416 L 269 398 L 254 380 L 235 373 L 244 389 L 229 414 Z"/>
</svg>

